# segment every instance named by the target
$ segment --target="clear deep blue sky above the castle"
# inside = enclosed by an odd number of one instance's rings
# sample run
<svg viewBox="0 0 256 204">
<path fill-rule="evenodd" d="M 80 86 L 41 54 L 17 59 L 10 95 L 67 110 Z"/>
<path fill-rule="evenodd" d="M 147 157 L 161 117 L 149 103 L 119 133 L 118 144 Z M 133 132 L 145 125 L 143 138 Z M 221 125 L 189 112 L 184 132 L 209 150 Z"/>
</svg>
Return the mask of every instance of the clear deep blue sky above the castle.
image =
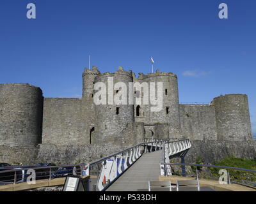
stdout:
<svg viewBox="0 0 256 204">
<path fill-rule="evenodd" d="M 36 4 L 34 20 L 28 3 Z M 218 18 L 220 3 L 227 20 Z M 255 22 L 255 0 L 1 0 L 0 83 L 77 97 L 89 54 L 102 72 L 148 73 L 153 56 L 156 68 L 178 75 L 181 102 L 248 94 L 256 124 Z"/>
</svg>

